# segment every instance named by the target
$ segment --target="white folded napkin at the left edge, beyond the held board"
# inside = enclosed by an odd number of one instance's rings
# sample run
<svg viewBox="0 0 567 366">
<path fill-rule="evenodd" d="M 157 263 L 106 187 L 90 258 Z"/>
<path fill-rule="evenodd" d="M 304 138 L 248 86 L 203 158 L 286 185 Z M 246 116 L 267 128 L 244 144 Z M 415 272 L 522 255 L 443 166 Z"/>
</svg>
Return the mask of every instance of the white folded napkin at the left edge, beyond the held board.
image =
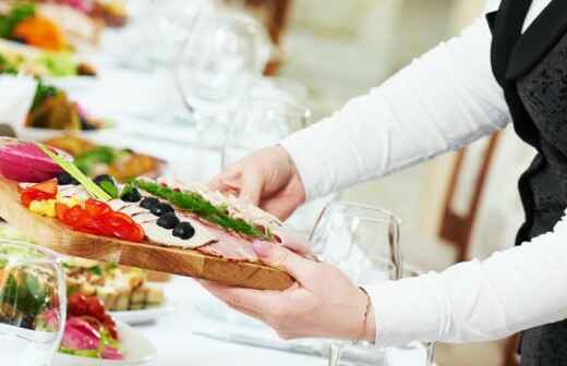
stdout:
<svg viewBox="0 0 567 366">
<path fill-rule="evenodd" d="M 34 101 L 37 82 L 31 76 L 0 75 L 0 123 L 23 125 Z"/>
</svg>

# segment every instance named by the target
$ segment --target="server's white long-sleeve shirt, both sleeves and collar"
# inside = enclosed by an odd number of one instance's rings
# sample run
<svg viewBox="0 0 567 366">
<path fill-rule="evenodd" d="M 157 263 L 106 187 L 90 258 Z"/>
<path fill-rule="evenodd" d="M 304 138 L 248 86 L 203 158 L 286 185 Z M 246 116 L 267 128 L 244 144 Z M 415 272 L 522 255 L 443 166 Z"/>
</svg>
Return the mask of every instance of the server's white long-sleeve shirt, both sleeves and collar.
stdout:
<svg viewBox="0 0 567 366">
<path fill-rule="evenodd" d="M 524 23 L 551 0 L 534 0 Z M 486 11 L 498 8 L 490 1 Z M 367 95 L 281 145 L 309 198 L 378 178 L 504 127 L 484 17 Z M 548 233 L 441 273 L 366 286 L 376 344 L 499 339 L 567 318 L 567 219 Z"/>
</svg>

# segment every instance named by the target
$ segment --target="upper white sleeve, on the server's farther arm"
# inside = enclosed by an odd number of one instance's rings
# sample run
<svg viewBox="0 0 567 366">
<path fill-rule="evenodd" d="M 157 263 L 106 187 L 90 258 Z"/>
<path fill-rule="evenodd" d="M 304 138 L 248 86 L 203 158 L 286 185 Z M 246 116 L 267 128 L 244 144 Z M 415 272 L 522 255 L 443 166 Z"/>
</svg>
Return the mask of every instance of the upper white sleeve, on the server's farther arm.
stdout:
<svg viewBox="0 0 567 366">
<path fill-rule="evenodd" d="M 457 149 L 506 125 L 484 19 L 330 118 L 286 138 L 307 198 Z"/>
</svg>

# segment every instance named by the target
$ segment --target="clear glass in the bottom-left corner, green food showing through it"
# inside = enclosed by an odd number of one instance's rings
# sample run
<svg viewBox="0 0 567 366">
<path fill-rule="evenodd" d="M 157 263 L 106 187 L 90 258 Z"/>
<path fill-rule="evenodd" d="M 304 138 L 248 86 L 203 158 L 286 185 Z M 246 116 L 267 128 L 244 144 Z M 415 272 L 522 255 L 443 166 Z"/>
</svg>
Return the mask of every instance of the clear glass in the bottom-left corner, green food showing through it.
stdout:
<svg viewBox="0 0 567 366">
<path fill-rule="evenodd" d="M 65 322 L 64 276 L 44 248 L 0 241 L 0 354 L 11 366 L 48 366 Z"/>
</svg>

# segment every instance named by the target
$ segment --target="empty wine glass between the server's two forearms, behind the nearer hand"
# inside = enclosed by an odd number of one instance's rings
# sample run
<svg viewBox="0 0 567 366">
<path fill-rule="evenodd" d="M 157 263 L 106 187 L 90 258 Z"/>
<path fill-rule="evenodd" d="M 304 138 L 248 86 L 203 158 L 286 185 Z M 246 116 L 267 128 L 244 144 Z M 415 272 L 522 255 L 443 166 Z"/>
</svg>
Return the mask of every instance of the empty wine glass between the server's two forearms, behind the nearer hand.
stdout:
<svg viewBox="0 0 567 366">
<path fill-rule="evenodd" d="M 403 274 L 399 219 L 373 206 L 331 202 L 310 235 L 313 253 L 342 270 L 354 283 L 397 280 Z M 338 366 L 350 342 L 333 340 L 329 366 Z"/>
</svg>

